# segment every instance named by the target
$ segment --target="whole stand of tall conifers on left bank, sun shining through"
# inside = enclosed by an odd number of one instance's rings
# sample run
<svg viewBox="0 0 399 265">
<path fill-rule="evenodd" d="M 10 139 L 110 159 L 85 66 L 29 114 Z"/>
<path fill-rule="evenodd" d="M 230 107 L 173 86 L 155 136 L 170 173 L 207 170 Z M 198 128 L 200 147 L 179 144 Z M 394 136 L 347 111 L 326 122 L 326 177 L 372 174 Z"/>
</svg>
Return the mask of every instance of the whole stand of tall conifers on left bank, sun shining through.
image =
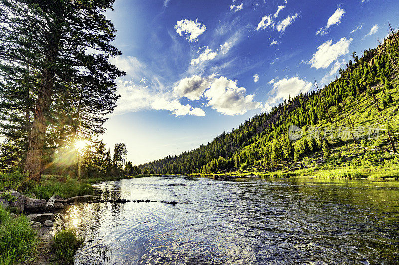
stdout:
<svg viewBox="0 0 399 265">
<path fill-rule="evenodd" d="M 73 176 L 79 159 L 88 176 L 124 167 L 97 140 L 125 74 L 108 60 L 121 54 L 104 15 L 113 2 L 0 1 L 0 173 L 40 182 L 42 173 Z"/>
</svg>

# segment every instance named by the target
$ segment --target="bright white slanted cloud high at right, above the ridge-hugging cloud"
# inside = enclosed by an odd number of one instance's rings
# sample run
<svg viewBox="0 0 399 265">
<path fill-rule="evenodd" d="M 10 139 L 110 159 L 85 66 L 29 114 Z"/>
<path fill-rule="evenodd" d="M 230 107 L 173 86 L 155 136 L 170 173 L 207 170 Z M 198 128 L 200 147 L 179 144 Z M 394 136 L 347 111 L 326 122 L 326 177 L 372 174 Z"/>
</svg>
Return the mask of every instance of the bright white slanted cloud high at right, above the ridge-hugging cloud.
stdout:
<svg viewBox="0 0 399 265">
<path fill-rule="evenodd" d="M 321 44 L 312 59 L 309 60 L 311 67 L 316 69 L 327 68 L 332 62 L 336 61 L 341 55 L 345 55 L 349 52 L 349 44 L 352 42 L 352 38 L 346 39 L 343 37 L 340 41 L 332 44 L 332 40 L 328 40 Z"/>
</svg>

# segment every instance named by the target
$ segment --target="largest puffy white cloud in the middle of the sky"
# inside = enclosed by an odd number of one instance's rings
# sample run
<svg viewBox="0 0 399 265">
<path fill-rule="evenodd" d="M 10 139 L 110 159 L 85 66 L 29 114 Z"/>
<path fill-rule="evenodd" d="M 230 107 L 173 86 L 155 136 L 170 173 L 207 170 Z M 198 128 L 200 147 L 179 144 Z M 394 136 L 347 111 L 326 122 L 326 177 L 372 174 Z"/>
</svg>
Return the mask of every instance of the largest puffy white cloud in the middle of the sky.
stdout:
<svg viewBox="0 0 399 265">
<path fill-rule="evenodd" d="M 212 85 L 205 91 L 207 106 L 226 115 L 244 114 L 248 110 L 261 107 L 259 102 L 253 101 L 254 95 L 246 95 L 246 89 L 237 87 L 237 81 L 224 76 L 214 79 Z"/>
</svg>

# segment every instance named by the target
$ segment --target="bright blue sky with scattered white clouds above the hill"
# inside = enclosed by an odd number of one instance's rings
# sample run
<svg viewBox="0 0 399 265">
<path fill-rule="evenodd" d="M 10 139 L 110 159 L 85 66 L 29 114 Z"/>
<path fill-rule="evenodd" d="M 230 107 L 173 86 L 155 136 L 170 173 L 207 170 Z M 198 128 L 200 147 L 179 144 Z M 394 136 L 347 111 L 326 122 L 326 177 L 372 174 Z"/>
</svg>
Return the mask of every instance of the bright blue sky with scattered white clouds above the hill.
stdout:
<svg viewBox="0 0 399 265">
<path fill-rule="evenodd" d="M 112 59 L 127 75 L 106 122 L 134 164 L 179 154 L 328 83 L 397 29 L 399 1 L 116 0 Z"/>
</svg>

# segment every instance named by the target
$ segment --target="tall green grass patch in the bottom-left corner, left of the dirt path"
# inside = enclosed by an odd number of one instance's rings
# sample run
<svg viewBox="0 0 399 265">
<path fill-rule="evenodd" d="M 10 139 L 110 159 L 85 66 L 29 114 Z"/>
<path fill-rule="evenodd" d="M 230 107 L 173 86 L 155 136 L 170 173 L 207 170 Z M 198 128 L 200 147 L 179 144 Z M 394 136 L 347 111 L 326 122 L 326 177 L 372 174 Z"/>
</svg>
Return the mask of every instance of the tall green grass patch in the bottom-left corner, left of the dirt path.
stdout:
<svg viewBox="0 0 399 265">
<path fill-rule="evenodd" d="M 15 265 L 27 260 L 36 247 L 36 232 L 22 215 L 15 219 L 0 205 L 0 264 Z"/>
</svg>

